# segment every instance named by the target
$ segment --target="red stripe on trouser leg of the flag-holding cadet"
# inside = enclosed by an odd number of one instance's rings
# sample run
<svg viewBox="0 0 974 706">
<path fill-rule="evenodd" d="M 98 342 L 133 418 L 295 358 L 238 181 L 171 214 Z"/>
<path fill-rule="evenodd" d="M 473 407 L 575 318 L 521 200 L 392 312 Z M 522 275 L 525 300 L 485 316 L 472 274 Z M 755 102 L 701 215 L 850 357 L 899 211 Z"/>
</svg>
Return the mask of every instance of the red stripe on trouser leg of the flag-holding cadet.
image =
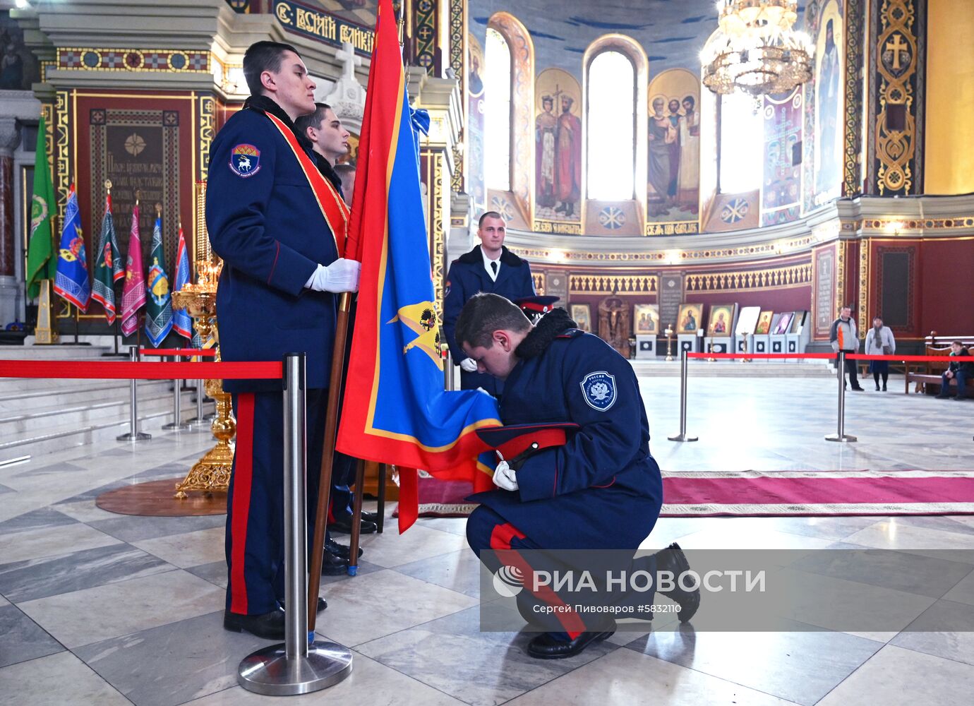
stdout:
<svg viewBox="0 0 974 706">
<path fill-rule="evenodd" d="M 247 611 L 244 557 L 253 481 L 253 392 L 237 395 L 237 448 L 234 452 L 233 520 L 230 524 L 230 612 Z"/>
</svg>

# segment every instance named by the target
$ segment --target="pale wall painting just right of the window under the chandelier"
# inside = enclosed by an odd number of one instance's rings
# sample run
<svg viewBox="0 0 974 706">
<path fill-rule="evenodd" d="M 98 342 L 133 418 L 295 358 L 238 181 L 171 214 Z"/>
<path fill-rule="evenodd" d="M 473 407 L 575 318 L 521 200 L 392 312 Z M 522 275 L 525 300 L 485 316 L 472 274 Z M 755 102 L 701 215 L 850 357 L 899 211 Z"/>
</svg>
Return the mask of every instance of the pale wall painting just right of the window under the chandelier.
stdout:
<svg viewBox="0 0 974 706">
<path fill-rule="evenodd" d="M 765 97 L 762 226 L 787 223 L 800 215 L 804 102 L 801 87 L 787 95 Z"/>
</svg>

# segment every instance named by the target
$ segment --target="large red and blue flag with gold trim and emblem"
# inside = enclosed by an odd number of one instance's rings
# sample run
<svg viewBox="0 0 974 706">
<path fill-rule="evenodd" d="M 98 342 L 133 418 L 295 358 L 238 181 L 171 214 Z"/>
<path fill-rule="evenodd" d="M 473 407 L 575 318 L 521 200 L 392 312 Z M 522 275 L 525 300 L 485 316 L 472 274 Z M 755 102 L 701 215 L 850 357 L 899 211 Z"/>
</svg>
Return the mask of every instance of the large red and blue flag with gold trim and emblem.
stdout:
<svg viewBox="0 0 974 706">
<path fill-rule="evenodd" d="M 500 426 L 477 390 L 443 390 L 419 165 L 393 6 L 381 0 L 346 257 L 362 263 L 338 450 L 397 464 L 399 529 L 416 517 L 416 472 L 492 487 L 480 427 Z M 483 469 L 483 468 L 482 468 Z"/>
</svg>

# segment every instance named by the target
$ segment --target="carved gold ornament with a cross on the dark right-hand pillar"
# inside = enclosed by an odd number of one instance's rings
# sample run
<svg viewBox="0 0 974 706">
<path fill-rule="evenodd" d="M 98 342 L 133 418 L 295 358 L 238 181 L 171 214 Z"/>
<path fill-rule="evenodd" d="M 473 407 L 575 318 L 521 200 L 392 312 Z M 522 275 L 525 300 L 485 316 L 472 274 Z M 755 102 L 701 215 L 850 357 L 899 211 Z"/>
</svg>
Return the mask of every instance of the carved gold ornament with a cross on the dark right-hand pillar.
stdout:
<svg viewBox="0 0 974 706">
<path fill-rule="evenodd" d="M 877 40 L 879 113 L 876 120 L 876 152 L 880 161 L 877 186 L 884 194 L 910 194 L 914 189 L 914 157 L 917 140 L 917 108 L 912 79 L 917 72 L 917 37 L 914 0 L 882 0 L 880 36 Z M 903 106 L 902 130 L 887 126 L 891 106 Z"/>
</svg>

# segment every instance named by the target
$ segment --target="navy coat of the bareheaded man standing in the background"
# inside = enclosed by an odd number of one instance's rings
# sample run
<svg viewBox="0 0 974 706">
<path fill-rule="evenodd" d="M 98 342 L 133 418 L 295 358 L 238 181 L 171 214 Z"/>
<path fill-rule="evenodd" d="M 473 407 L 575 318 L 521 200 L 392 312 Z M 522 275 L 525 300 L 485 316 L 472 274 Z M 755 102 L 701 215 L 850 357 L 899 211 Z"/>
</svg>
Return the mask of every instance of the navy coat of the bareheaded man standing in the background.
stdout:
<svg viewBox="0 0 974 706">
<path fill-rule="evenodd" d="M 455 365 L 459 365 L 467 357 L 467 353 L 460 348 L 462 342 L 455 340 L 454 330 L 460 310 L 470 297 L 477 292 L 492 292 L 514 301 L 535 294 L 535 283 L 531 279 L 531 265 L 528 261 L 522 260 L 504 246 L 501 247 L 500 259 L 501 268 L 496 281 L 484 269 L 480 245 L 461 255 L 450 265 L 443 301 L 443 333 Z M 461 370 L 460 387 L 462 390 L 483 388 L 494 396 L 499 396 L 504 390 L 504 383 L 486 373 L 468 373 Z"/>
</svg>

